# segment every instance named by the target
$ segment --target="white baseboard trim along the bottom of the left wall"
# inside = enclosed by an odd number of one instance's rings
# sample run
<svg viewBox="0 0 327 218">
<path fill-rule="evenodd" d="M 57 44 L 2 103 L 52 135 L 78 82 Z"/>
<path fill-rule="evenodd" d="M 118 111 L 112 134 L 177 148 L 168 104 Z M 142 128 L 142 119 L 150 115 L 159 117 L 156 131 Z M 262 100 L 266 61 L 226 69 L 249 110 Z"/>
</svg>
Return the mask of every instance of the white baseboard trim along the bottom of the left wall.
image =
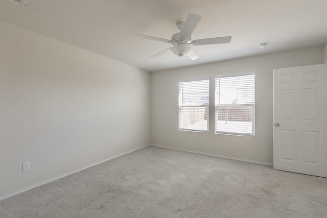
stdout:
<svg viewBox="0 0 327 218">
<path fill-rule="evenodd" d="M 45 181 L 43 181 L 43 182 L 39 182 L 39 183 L 36 183 L 36 184 L 34 184 L 34 185 L 30 185 L 30 186 L 28 186 L 28 187 L 18 189 L 18 190 L 16 190 L 16 191 L 13 191 L 13 192 L 11 192 L 11 193 L 8 193 L 7 195 L 1 196 L 1 197 L 0 197 L 0 201 L 4 200 L 4 199 L 6 199 L 6 198 L 10 198 L 10 197 L 12 197 L 12 196 L 18 195 L 18 194 L 20 194 L 20 193 L 22 193 L 22 192 L 25 192 L 25 191 L 31 190 L 31 189 L 33 189 L 33 188 L 35 188 L 35 187 L 37 187 L 37 186 L 44 185 L 44 184 L 49 183 L 49 182 L 53 182 L 53 181 L 55 181 L 55 180 L 61 179 L 61 178 L 63 178 L 63 177 L 69 176 L 69 175 L 71 175 L 71 174 L 74 174 L 74 173 L 77 173 L 77 172 L 83 171 L 84 169 L 87 169 L 87 168 L 89 168 L 89 167 L 91 167 L 91 166 L 98 165 L 98 164 L 100 164 L 100 163 L 103 163 L 103 162 L 106 162 L 106 161 L 108 161 L 108 160 L 114 159 L 114 158 L 116 158 L 116 157 L 120 157 L 120 156 L 123 156 L 123 155 L 125 155 L 125 154 L 128 154 L 128 153 L 131 153 L 131 152 L 134 152 L 134 151 L 137 151 L 137 150 L 143 149 L 143 148 L 148 147 L 148 146 L 150 146 L 150 144 L 147 144 L 146 146 L 143 146 L 143 147 L 138 147 L 138 148 L 136 148 L 136 149 L 132 149 L 132 150 L 130 150 L 130 151 L 127 151 L 127 152 L 124 152 L 124 153 L 121 153 L 121 154 L 118 154 L 118 155 L 114 155 L 114 156 L 112 156 L 112 157 L 106 158 L 106 159 L 104 159 L 104 160 L 100 160 L 100 161 L 98 161 L 98 162 L 96 162 L 96 163 L 92 163 L 92 164 L 90 164 L 90 165 L 87 165 L 87 166 L 84 166 L 84 167 L 82 167 L 82 168 L 76 169 L 75 171 L 71 171 L 71 172 L 68 172 L 68 173 L 62 174 L 62 175 L 60 175 L 60 176 L 57 176 L 57 177 L 54 177 L 54 178 L 51 178 L 51 179 L 45 180 Z"/>
</svg>

